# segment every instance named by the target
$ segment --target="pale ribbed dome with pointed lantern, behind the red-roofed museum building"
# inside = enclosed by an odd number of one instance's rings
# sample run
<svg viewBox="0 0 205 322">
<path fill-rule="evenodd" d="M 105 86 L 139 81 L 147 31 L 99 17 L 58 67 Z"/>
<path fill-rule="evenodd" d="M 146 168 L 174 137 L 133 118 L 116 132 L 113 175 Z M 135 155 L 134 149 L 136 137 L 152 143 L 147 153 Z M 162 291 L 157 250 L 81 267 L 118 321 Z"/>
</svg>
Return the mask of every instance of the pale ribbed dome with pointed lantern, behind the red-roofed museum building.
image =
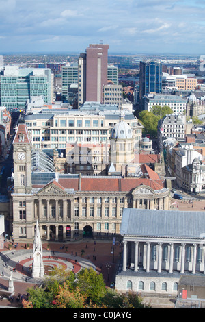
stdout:
<svg viewBox="0 0 205 322">
<path fill-rule="evenodd" d="M 115 140 L 126 140 L 133 138 L 133 131 L 131 127 L 124 121 L 124 110 L 120 113 L 120 122 L 115 124 L 111 130 L 111 138 Z"/>
</svg>

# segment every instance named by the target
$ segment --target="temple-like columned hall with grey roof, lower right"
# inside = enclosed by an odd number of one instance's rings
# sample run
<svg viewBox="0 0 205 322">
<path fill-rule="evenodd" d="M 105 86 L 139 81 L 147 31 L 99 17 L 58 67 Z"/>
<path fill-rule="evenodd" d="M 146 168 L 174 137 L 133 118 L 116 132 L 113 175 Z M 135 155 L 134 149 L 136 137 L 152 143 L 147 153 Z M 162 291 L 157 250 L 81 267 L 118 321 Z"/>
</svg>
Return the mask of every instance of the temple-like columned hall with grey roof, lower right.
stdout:
<svg viewBox="0 0 205 322">
<path fill-rule="evenodd" d="M 205 212 L 124 209 L 116 288 L 176 294 L 181 274 L 204 275 L 204 224 Z"/>
</svg>

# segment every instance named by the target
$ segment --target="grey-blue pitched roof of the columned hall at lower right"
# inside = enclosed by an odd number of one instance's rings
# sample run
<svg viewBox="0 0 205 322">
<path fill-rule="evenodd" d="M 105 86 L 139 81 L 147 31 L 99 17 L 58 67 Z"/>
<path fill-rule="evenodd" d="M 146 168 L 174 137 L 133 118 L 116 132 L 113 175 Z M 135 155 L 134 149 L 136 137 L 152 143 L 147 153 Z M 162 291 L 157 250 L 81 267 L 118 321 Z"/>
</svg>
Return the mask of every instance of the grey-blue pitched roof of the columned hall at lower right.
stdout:
<svg viewBox="0 0 205 322">
<path fill-rule="evenodd" d="M 204 239 L 205 212 L 125 208 L 121 235 Z"/>
</svg>

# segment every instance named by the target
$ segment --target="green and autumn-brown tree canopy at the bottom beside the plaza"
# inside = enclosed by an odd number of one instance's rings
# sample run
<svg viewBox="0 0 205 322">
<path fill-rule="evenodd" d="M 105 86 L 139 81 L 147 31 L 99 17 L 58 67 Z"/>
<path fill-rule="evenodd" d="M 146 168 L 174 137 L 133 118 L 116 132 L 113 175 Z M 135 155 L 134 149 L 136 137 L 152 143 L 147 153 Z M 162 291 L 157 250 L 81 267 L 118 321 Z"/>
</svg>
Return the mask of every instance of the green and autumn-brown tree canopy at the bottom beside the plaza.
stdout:
<svg viewBox="0 0 205 322">
<path fill-rule="evenodd" d="M 55 273 L 44 280 L 42 288 L 27 289 L 29 298 L 23 300 L 24 308 L 150 308 L 134 292 L 106 288 L 102 274 L 92 268 L 74 275 L 61 267 Z"/>
</svg>

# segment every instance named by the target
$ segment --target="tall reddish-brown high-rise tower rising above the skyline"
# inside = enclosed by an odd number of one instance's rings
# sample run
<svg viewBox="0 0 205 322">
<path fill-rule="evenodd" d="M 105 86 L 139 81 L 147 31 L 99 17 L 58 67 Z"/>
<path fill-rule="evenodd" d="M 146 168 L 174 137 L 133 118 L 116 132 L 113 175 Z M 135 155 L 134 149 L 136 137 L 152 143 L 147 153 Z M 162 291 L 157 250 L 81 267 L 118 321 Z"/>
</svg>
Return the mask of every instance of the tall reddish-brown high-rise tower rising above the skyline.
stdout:
<svg viewBox="0 0 205 322">
<path fill-rule="evenodd" d="M 102 102 L 102 88 L 107 85 L 109 45 L 89 45 L 79 56 L 79 107 L 85 101 Z"/>
</svg>

